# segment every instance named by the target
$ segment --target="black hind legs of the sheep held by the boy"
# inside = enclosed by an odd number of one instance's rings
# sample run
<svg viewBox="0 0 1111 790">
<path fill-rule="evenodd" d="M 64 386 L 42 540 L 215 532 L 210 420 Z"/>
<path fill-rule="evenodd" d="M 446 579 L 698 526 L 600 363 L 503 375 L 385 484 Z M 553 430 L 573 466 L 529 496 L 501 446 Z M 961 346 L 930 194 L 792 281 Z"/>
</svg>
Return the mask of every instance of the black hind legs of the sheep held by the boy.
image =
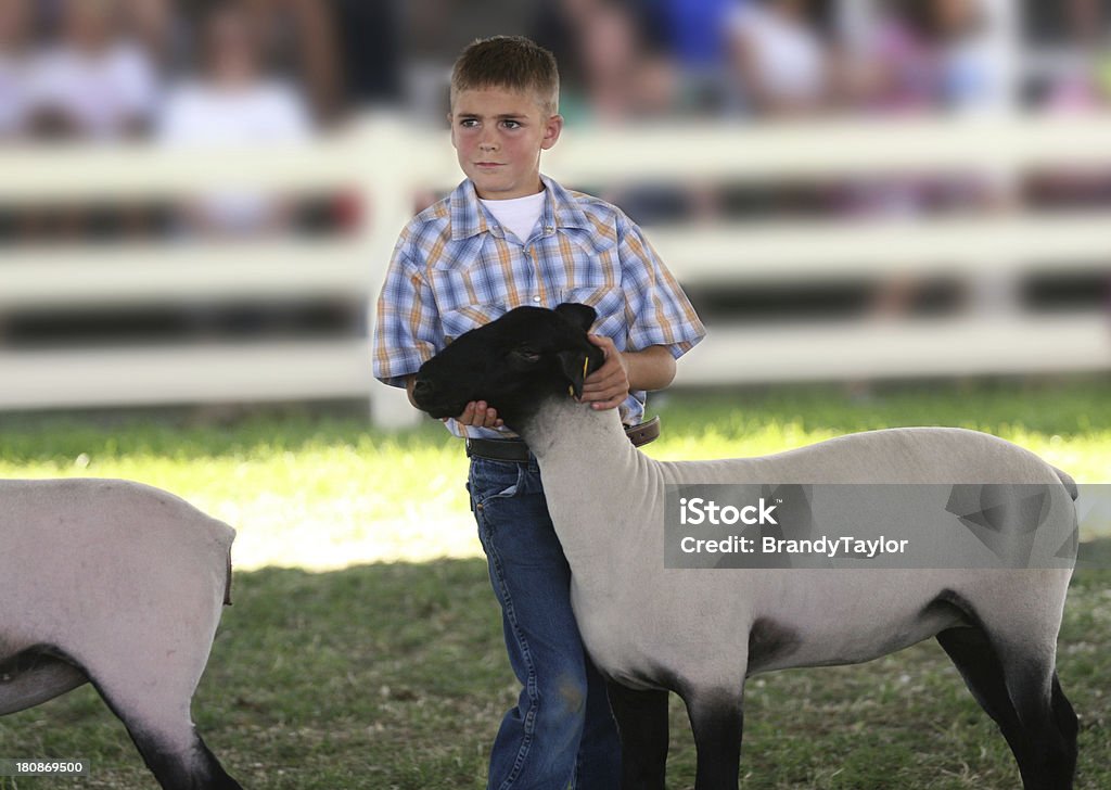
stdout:
<svg viewBox="0 0 1111 790">
<path fill-rule="evenodd" d="M 1077 764 L 1077 716 L 1057 673 L 1035 658 L 1000 651 L 980 628 L 954 628 L 938 641 L 1014 753 L 1027 790 L 1068 790 Z"/>
</svg>

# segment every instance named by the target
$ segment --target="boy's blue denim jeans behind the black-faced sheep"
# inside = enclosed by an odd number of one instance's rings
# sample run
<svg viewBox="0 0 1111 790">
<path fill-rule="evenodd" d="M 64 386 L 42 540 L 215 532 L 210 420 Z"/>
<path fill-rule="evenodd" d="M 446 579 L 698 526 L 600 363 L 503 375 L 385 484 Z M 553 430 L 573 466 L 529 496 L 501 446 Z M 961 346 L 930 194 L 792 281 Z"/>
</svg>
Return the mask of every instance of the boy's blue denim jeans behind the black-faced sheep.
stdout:
<svg viewBox="0 0 1111 790">
<path fill-rule="evenodd" d="M 490 753 L 490 790 L 613 790 L 621 746 L 605 682 L 571 612 L 571 571 L 536 459 L 472 458 L 467 488 L 509 662 L 521 681 Z"/>
</svg>

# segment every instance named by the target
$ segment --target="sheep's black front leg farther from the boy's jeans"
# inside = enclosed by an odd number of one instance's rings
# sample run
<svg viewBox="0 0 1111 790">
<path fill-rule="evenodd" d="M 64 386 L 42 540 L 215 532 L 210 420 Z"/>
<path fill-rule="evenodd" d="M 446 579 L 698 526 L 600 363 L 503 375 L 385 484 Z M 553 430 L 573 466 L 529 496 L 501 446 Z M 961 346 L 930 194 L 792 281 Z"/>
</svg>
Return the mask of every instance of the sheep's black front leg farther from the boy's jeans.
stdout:
<svg viewBox="0 0 1111 790">
<path fill-rule="evenodd" d="M 695 790 L 735 788 L 740 780 L 744 726 L 740 694 L 697 696 L 685 701 L 698 751 Z"/>
</svg>

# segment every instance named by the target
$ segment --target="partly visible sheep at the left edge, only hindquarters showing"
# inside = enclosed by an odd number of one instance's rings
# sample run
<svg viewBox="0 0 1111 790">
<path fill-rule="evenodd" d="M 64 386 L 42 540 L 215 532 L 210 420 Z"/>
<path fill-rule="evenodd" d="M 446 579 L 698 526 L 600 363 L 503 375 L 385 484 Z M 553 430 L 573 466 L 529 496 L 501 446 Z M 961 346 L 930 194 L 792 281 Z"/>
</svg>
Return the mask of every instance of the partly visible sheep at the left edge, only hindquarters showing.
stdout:
<svg viewBox="0 0 1111 790">
<path fill-rule="evenodd" d="M 0 481 L 0 716 L 91 682 L 167 790 L 237 790 L 190 702 L 236 531 L 123 480 Z"/>
</svg>

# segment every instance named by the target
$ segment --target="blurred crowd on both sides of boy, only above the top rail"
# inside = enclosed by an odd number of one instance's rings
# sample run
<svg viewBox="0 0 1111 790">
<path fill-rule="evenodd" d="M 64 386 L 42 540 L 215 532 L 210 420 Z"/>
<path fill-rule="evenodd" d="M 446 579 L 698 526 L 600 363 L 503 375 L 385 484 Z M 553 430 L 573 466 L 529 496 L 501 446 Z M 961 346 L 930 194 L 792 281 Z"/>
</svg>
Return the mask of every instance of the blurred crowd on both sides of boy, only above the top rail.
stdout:
<svg viewBox="0 0 1111 790">
<path fill-rule="evenodd" d="M 441 116 L 454 54 L 493 32 L 556 52 L 572 123 L 1105 107 L 1108 2 L 1027 13 L 1044 6 L 0 0 L 0 139 L 298 139 L 368 100 Z M 1069 57 L 1025 73 L 1031 39 L 1050 28 Z"/>
</svg>

